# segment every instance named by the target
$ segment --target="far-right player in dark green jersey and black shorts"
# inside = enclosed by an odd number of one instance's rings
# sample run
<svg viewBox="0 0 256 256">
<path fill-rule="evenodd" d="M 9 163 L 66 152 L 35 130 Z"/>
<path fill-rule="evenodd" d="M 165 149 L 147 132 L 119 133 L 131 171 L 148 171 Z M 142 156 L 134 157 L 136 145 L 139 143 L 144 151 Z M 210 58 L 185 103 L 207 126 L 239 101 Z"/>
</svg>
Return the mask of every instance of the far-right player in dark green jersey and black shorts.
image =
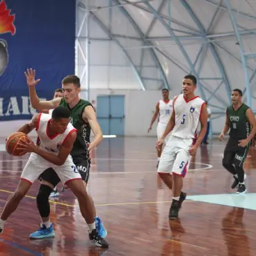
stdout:
<svg viewBox="0 0 256 256">
<path fill-rule="evenodd" d="M 229 132 L 228 143 L 224 149 L 222 165 L 230 172 L 235 181 L 231 188 L 237 188 L 237 194 L 244 194 L 244 161 L 250 147 L 250 140 L 256 133 L 256 120 L 252 109 L 241 102 L 243 93 L 240 89 L 232 91 L 232 105 L 226 109 L 226 122 L 219 135 L 223 140 L 224 135 Z"/>
</svg>

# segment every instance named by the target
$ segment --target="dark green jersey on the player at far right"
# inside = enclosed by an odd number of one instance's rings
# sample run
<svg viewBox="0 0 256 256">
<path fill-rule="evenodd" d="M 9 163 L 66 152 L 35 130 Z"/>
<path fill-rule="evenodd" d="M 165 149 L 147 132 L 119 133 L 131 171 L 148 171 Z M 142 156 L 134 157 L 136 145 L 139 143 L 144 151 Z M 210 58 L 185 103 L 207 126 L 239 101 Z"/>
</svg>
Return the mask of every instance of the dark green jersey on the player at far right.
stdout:
<svg viewBox="0 0 256 256">
<path fill-rule="evenodd" d="M 229 135 L 231 138 L 244 139 L 250 134 L 250 122 L 246 117 L 247 109 L 249 109 L 249 107 L 244 103 L 241 104 L 237 111 L 235 111 L 233 106 L 226 109 L 230 123 Z"/>
</svg>

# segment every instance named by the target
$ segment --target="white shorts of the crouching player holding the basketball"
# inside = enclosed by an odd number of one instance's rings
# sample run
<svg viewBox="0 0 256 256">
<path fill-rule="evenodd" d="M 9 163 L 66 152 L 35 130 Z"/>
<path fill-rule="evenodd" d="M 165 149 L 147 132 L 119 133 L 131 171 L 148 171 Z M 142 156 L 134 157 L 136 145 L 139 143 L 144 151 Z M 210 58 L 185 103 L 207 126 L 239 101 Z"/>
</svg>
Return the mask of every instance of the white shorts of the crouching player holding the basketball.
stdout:
<svg viewBox="0 0 256 256">
<path fill-rule="evenodd" d="M 49 165 L 49 162 L 46 160 L 42 160 L 41 157 L 37 158 L 37 161 L 32 161 L 28 159 L 24 170 L 21 173 L 21 179 L 28 181 L 29 183 L 34 183 L 35 180 L 38 179 L 39 175 L 42 174 L 46 169 L 52 167 L 53 170 L 57 173 L 62 184 L 68 183 L 68 181 L 74 179 L 82 179 L 80 173 L 77 170 L 77 167 L 73 163 L 73 161 L 66 161 L 64 165 L 57 166 L 57 165 Z"/>
</svg>

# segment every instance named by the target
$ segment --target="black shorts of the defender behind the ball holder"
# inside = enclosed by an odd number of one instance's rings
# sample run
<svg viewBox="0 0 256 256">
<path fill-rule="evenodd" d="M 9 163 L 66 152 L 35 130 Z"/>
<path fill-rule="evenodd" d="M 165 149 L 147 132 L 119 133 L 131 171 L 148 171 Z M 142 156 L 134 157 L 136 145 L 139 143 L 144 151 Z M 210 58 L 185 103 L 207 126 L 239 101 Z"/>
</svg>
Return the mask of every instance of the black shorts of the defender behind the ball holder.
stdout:
<svg viewBox="0 0 256 256">
<path fill-rule="evenodd" d="M 88 183 L 89 181 L 89 174 L 90 174 L 90 167 L 91 167 L 91 160 L 86 160 L 80 157 L 74 157 L 73 163 L 76 165 L 78 172 L 82 176 L 82 180 Z M 48 183 L 53 184 L 55 187 L 57 183 L 60 182 L 59 176 L 57 176 L 55 170 L 53 168 L 46 169 L 40 176 L 38 177 L 39 181 L 48 181 Z"/>
</svg>

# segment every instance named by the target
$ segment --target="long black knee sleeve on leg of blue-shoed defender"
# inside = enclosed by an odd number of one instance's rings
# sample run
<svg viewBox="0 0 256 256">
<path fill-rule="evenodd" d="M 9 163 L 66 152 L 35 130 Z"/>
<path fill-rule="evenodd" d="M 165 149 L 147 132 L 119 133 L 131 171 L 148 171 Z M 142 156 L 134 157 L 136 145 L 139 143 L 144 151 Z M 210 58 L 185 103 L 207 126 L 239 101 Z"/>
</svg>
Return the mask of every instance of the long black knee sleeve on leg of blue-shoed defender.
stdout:
<svg viewBox="0 0 256 256">
<path fill-rule="evenodd" d="M 53 190 L 48 185 L 40 185 L 39 192 L 37 194 L 37 208 L 41 217 L 46 218 L 50 215 L 50 203 L 49 196 Z"/>
</svg>

